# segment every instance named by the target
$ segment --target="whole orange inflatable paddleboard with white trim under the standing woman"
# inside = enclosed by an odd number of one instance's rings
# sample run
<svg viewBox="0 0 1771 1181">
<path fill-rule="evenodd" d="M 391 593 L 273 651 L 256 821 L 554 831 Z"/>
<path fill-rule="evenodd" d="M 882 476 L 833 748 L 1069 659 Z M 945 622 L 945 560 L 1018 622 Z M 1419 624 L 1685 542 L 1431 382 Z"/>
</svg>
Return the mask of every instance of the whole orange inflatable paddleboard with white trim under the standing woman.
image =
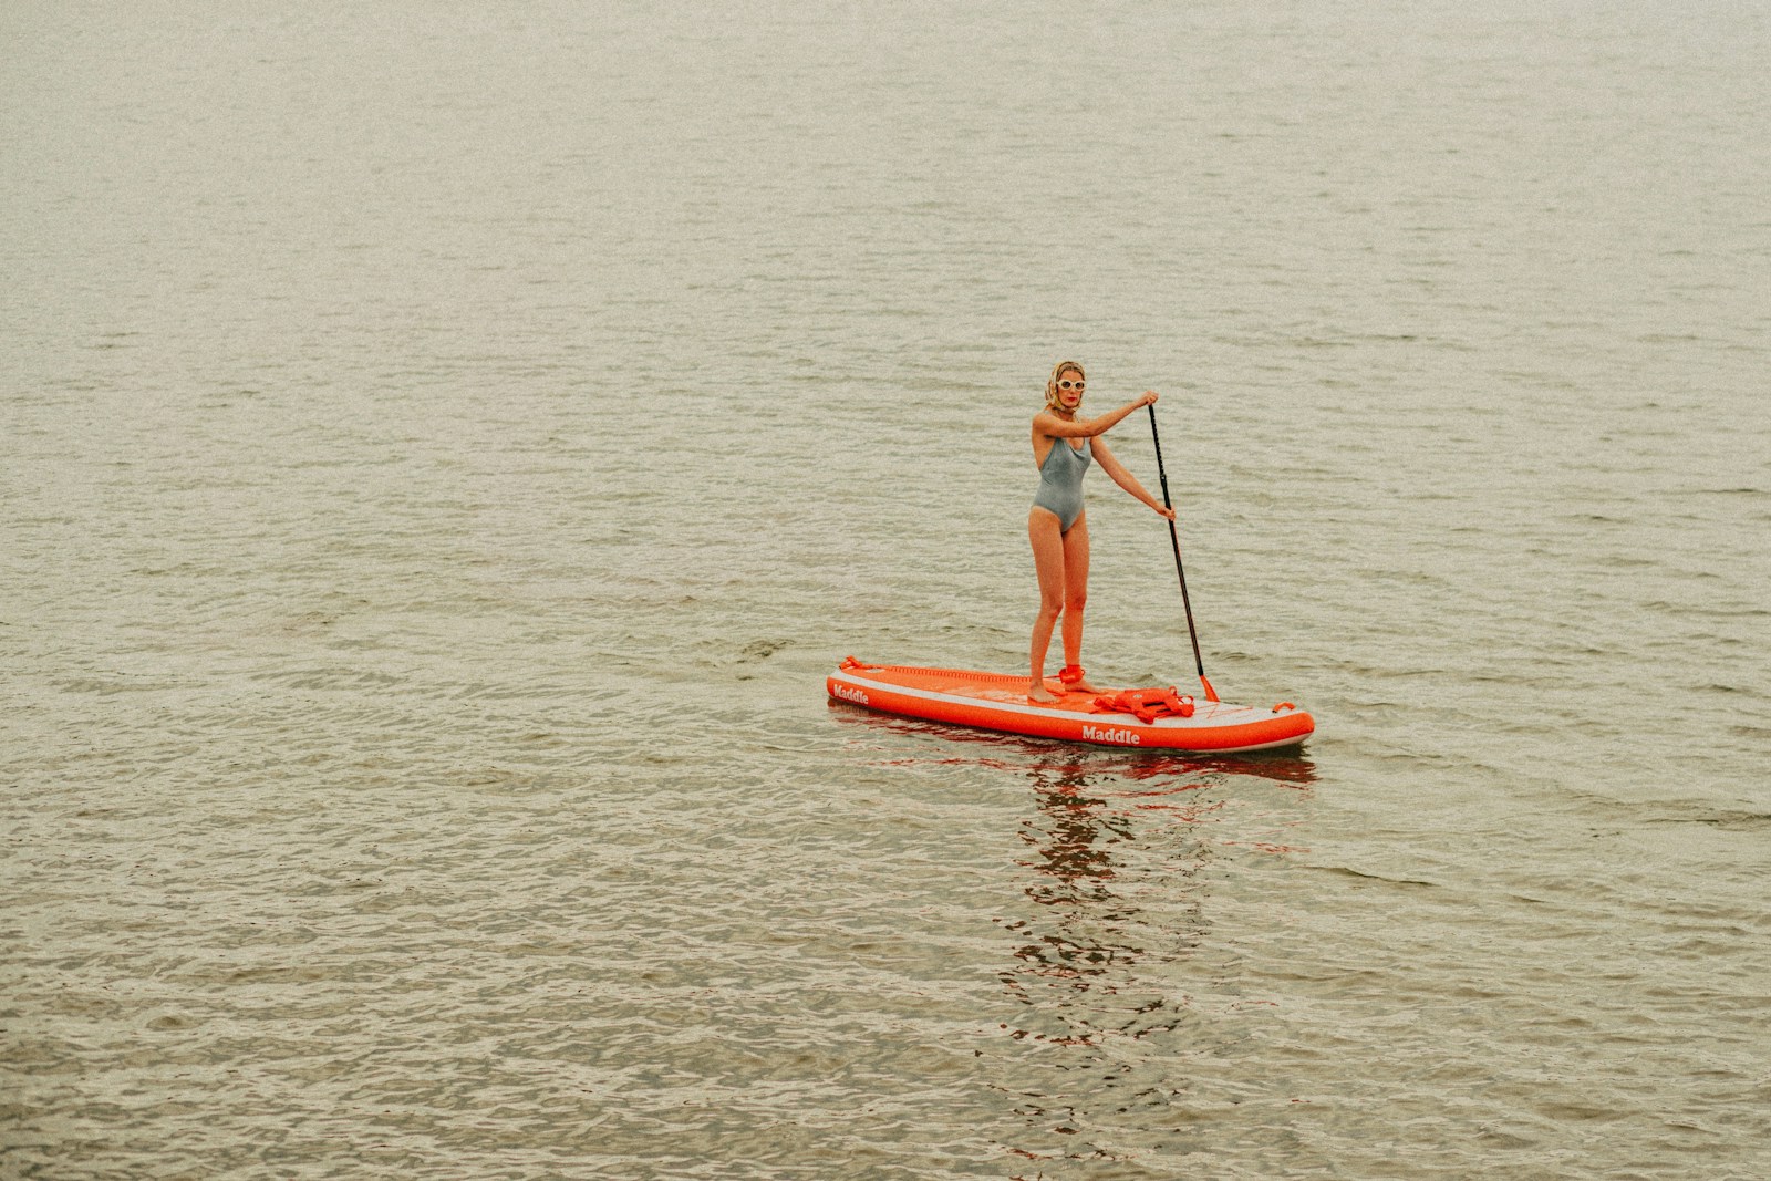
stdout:
<svg viewBox="0 0 1771 1181">
<path fill-rule="evenodd" d="M 1133 691 L 1077 692 L 1050 678 L 1045 687 L 1061 694 L 1059 701 L 1029 701 L 1025 676 L 862 664 L 854 657 L 825 680 L 832 699 L 870 710 L 1066 742 L 1227 754 L 1298 745 L 1316 731 L 1316 719 L 1289 701 L 1263 708 L 1183 698 L 1190 714 L 1144 721 L 1105 701 Z"/>
</svg>

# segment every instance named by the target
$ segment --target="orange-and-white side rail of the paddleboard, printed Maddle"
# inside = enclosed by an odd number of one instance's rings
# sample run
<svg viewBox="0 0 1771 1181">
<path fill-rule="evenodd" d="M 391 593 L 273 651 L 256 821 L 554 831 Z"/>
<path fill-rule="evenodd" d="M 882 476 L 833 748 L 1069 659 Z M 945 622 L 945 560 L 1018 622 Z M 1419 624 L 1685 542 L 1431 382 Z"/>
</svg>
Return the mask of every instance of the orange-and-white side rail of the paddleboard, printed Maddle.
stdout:
<svg viewBox="0 0 1771 1181">
<path fill-rule="evenodd" d="M 1266 714 L 1254 706 L 1222 701 L 1197 703 L 1199 712 L 1192 717 L 1158 717 L 1151 722 L 1141 722 L 1132 714 L 1098 714 L 997 701 L 962 692 L 896 685 L 845 671 L 832 673 L 827 685 L 838 701 L 886 714 L 1121 747 L 1264 751 L 1303 742 L 1316 729 L 1314 719 L 1300 710 Z M 847 692 L 843 692 L 845 687 Z M 1222 717 L 1224 714 L 1245 717 L 1229 721 Z"/>
</svg>

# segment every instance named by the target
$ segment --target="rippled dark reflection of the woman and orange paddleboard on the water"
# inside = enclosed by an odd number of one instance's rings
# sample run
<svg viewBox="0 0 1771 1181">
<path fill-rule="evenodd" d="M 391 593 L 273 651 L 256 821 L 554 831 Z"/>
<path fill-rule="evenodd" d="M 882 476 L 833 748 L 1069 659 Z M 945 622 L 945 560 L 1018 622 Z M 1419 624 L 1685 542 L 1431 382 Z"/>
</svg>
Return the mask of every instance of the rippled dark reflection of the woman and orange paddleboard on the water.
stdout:
<svg viewBox="0 0 1771 1181">
<path fill-rule="evenodd" d="M 1192 1128 L 1224 1061 L 1247 1054 L 1241 924 L 1220 898 L 1236 853 L 1284 857 L 1318 779 L 1298 753 L 1187 756 L 1082 747 L 939 726 L 836 705 L 877 733 L 882 765 L 940 767 L 1029 784 L 1015 857 L 1018 894 L 994 917 L 1006 1048 L 985 1085 L 1006 1123 L 1017 1177 L 1079 1162 L 1132 1169 L 1208 1147 Z M 909 740 L 909 742 L 905 742 Z M 1220 930 L 1222 928 L 1222 930 Z M 1254 1022 L 1266 1018 L 1254 1016 Z"/>
</svg>

